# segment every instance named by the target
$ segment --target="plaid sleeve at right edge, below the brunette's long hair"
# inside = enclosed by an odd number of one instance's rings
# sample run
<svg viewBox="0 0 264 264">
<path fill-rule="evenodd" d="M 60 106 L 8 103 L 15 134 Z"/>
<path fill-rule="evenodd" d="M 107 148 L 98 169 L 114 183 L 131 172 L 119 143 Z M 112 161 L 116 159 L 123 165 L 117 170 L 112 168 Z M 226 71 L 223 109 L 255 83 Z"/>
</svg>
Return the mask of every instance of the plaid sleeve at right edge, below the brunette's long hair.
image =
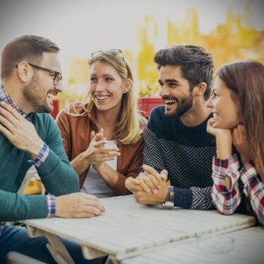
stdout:
<svg viewBox="0 0 264 264">
<path fill-rule="evenodd" d="M 258 217 L 258 221 L 264 225 L 264 183 L 256 171 L 253 161 L 244 164 L 241 169 L 243 192 L 251 201 L 251 206 Z"/>
</svg>

